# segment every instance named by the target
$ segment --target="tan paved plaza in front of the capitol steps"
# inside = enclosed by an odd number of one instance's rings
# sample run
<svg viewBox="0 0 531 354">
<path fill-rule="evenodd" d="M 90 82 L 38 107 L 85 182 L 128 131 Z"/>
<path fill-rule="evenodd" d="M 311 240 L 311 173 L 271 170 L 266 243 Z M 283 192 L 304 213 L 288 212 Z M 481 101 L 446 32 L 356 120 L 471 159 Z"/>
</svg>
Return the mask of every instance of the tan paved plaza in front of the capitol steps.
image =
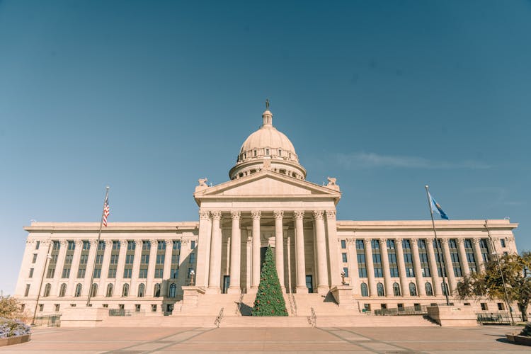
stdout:
<svg viewBox="0 0 531 354">
<path fill-rule="evenodd" d="M 36 329 L 28 343 L 0 353 L 523 353 L 504 333 L 474 328 L 93 328 Z"/>
</svg>

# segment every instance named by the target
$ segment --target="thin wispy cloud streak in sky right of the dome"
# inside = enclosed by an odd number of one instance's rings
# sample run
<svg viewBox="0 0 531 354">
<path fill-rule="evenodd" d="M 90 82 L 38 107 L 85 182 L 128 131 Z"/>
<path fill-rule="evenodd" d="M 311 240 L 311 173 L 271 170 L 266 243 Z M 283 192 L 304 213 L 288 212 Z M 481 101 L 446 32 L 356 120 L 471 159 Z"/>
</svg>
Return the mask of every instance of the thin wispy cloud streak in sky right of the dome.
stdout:
<svg viewBox="0 0 531 354">
<path fill-rule="evenodd" d="M 490 169 L 479 161 L 433 161 L 418 156 L 380 155 L 375 152 L 351 152 L 336 154 L 336 161 L 345 169 L 375 169 L 391 167 L 401 169 Z"/>
</svg>

